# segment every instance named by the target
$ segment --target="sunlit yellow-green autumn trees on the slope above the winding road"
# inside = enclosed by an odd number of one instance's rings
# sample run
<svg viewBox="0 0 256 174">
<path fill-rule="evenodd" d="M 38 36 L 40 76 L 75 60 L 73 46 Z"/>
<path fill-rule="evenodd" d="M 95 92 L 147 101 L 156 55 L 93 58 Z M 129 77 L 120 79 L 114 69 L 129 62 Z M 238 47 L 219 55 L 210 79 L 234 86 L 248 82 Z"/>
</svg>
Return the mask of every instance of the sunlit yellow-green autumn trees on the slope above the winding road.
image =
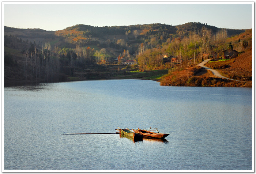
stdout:
<svg viewBox="0 0 256 174">
<path fill-rule="evenodd" d="M 213 34 L 211 29 L 203 27 L 194 30 L 188 36 L 166 39 L 166 42 L 157 41 L 163 37 L 151 37 L 145 40 L 138 48 L 138 62 L 142 70 L 157 69 L 163 66 L 162 56 L 178 56 L 178 63 L 188 62 L 191 58 L 201 61 L 204 55 L 211 56 L 212 52 L 220 53 L 227 48 L 225 43 L 227 30 L 219 30 Z M 240 49 L 241 50 L 241 49 Z M 182 58 L 181 58 L 182 57 Z M 183 64 L 187 65 L 187 64 Z"/>
</svg>

